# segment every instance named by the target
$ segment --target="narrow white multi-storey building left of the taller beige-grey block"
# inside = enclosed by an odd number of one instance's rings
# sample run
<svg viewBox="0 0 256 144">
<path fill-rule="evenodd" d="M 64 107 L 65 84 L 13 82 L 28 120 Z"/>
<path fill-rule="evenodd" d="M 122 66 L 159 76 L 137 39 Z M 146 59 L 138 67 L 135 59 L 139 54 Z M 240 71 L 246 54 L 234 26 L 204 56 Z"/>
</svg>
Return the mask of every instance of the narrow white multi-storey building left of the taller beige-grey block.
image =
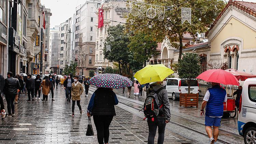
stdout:
<svg viewBox="0 0 256 144">
<path fill-rule="evenodd" d="M 59 40 L 60 40 L 60 53 L 59 60 L 59 74 L 62 73 L 66 64 L 71 62 L 71 17 L 64 23 L 59 25 Z"/>
</svg>

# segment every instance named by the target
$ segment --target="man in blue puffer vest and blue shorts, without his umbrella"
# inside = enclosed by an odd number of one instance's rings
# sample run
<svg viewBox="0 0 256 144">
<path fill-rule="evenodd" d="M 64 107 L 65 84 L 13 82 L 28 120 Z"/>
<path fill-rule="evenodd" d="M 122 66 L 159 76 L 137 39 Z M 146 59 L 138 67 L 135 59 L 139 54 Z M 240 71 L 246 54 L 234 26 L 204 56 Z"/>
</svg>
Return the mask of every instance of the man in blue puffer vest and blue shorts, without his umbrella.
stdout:
<svg viewBox="0 0 256 144">
<path fill-rule="evenodd" d="M 223 102 L 227 101 L 227 92 L 219 83 L 212 82 L 203 98 L 201 116 L 204 114 L 205 107 L 205 130 L 210 138 L 209 144 L 216 144 L 219 135 L 219 126 L 223 116 Z M 213 131 L 212 131 L 213 126 Z"/>
</svg>

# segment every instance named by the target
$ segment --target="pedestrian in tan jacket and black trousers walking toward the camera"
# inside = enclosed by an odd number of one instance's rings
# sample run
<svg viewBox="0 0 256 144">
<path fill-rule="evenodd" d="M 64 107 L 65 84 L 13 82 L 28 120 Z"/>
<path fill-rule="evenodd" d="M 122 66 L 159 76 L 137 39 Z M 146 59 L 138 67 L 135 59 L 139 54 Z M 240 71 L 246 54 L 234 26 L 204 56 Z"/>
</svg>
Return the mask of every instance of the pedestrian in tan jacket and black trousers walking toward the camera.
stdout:
<svg viewBox="0 0 256 144">
<path fill-rule="evenodd" d="M 72 114 L 71 116 L 74 116 L 74 110 L 75 110 L 75 101 L 76 105 L 79 107 L 80 114 L 83 113 L 81 105 L 80 105 L 80 96 L 84 92 L 83 85 L 78 81 L 79 76 L 74 76 L 74 83 L 72 83 L 72 89 L 71 89 L 71 100 L 72 100 Z"/>
</svg>

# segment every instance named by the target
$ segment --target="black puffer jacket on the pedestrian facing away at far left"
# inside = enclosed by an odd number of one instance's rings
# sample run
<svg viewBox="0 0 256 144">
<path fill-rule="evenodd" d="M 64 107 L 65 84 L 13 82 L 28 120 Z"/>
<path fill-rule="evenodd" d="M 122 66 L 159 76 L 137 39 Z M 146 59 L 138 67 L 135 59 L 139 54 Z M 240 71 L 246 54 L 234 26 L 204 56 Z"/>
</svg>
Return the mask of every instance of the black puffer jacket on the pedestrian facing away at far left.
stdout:
<svg viewBox="0 0 256 144">
<path fill-rule="evenodd" d="M 19 81 L 14 77 L 5 78 L 3 93 L 5 95 L 17 95 L 17 89 L 20 88 Z"/>
</svg>

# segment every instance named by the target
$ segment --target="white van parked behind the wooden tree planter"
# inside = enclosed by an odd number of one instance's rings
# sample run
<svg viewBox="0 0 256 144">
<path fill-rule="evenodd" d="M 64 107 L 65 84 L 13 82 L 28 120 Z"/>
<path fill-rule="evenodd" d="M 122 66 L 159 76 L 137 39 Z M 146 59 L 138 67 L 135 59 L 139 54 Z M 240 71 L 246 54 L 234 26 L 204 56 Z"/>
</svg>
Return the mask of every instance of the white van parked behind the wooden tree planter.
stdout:
<svg viewBox="0 0 256 144">
<path fill-rule="evenodd" d="M 168 97 L 171 97 L 173 100 L 179 99 L 180 93 L 188 93 L 187 80 L 181 80 L 180 78 L 167 78 L 166 81 Z M 199 85 L 197 80 L 191 80 L 190 83 L 190 93 L 198 93 Z"/>
</svg>

